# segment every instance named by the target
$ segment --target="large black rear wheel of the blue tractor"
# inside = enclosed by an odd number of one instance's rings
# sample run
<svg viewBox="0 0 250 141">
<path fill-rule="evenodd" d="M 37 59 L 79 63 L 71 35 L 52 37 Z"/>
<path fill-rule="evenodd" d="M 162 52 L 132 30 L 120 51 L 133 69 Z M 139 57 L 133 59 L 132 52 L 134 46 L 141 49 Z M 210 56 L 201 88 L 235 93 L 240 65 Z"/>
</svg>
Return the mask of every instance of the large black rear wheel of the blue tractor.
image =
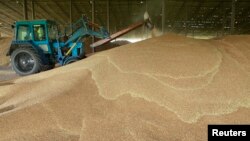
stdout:
<svg viewBox="0 0 250 141">
<path fill-rule="evenodd" d="M 20 47 L 11 54 L 11 65 L 19 75 L 30 75 L 41 70 L 42 61 L 32 47 Z"/>
</svg>

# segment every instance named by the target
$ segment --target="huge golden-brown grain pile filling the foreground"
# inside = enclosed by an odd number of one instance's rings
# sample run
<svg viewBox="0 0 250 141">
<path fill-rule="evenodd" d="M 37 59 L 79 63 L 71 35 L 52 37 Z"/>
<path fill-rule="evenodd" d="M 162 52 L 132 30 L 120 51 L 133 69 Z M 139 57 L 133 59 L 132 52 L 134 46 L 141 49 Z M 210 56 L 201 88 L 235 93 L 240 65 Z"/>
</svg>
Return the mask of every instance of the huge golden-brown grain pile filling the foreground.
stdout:
<svg viewBox="0 0 250 141">
<path fill-rule="evenodd" d="M 195 141 L 250 123 L 249 41 L 164 35 L 1 83 L 0 140 Z"/>
</svg>

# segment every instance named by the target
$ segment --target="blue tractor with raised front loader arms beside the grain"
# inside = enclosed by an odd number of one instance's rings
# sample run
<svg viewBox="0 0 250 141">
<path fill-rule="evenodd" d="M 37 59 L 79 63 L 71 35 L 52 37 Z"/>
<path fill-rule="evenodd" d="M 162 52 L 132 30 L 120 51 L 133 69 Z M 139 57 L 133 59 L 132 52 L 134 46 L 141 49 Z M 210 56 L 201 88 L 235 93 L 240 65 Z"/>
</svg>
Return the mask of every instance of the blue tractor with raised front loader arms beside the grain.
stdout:
<svg viewBox="0 0 250 141">
<path fill-rule="evenodd" d="M 51 20 L 18 21 L 13 27 L 15 36 L 7 56 L 12 68 L 22 76 L 52 69 L 56 63 L 67 65 L 84 58 L 83 38 L 109 38 L 107 30 L 86 17 L 65 28 L 64 33 Z"/>
</svg>

